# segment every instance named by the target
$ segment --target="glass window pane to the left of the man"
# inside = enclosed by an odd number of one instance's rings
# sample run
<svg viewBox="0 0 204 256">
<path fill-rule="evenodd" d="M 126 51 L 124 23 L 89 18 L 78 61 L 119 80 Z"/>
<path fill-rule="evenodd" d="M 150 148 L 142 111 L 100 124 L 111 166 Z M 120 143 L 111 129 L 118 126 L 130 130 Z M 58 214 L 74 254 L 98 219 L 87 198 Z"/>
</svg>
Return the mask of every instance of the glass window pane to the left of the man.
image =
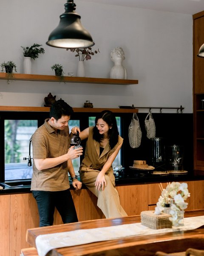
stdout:
<svg viewBox="0 0 204 256">
<path fill-rule="evenodd" d="M 37 129 L 37 120 L 4 120 L 5 180 L 29 179 L 29 140 Z"/>
</svg>

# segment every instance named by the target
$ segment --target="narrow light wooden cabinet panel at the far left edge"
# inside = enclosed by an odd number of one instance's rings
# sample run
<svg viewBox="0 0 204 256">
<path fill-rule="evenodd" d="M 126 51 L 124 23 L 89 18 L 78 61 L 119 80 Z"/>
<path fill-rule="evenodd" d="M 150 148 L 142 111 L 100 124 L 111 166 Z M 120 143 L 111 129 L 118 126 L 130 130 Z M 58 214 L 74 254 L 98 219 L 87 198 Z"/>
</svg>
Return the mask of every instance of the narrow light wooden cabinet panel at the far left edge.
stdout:
<svg viewBox="0 0 204 256">
<path fill-rule="evenodd" d="M 0 256 L 9 256 L 10 195 L 0 196 Z"/>
</svg>

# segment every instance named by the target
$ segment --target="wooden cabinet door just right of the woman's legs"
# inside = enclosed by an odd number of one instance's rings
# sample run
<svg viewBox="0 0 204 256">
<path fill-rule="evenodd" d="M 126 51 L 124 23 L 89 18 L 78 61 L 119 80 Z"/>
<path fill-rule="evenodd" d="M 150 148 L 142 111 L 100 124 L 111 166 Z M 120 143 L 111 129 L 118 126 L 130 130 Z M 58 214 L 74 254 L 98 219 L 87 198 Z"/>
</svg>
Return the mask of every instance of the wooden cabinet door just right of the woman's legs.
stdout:
<svg viewBox="0 0 204 256">
<path fill-rule="evenodd" d="M 130 215 L 139 215 L 148 210 L 148 185 L 116 186 L 120 203 Z"/>
</svg>

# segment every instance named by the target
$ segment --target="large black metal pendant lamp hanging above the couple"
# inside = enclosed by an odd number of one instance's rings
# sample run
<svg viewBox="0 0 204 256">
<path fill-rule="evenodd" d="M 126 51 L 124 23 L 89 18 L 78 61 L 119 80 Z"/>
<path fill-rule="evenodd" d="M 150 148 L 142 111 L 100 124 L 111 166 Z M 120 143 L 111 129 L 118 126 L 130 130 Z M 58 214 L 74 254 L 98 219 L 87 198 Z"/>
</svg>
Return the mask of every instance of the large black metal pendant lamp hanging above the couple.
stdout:
<svg viewBox="0 0 204 256">
<path fill-rule="evenodd" d="M 65 3 L 65 12 L 60 15 L 59 25 L 49 35 L 47 45 L 59 48 L 86 48 L 95 43 L 90 33 L 82 26 L 81 16 L 75 12 L 73 0 Z"/>
</svg>

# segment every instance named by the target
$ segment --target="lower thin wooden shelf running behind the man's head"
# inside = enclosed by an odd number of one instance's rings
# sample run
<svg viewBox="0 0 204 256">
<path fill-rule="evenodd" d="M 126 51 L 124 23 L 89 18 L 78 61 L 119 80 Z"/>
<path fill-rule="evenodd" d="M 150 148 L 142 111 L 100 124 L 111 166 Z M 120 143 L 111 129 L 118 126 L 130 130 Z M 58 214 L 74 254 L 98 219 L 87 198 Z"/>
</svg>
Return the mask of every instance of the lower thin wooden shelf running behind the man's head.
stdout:
<svg viewBox="0 0 204 256">
<path fill-rule="evenodd" d="M 83 113 L 97 113 L 105 109 L 113 113 L 138 113 L 138 109 L 133 108 L 73 108 L 74 112 Z M 23 107 L 23 106 L 0 106 L 0 111 L 35 111 L 35 112 L 49 112 L 49 107 Z"/>
</svg>

